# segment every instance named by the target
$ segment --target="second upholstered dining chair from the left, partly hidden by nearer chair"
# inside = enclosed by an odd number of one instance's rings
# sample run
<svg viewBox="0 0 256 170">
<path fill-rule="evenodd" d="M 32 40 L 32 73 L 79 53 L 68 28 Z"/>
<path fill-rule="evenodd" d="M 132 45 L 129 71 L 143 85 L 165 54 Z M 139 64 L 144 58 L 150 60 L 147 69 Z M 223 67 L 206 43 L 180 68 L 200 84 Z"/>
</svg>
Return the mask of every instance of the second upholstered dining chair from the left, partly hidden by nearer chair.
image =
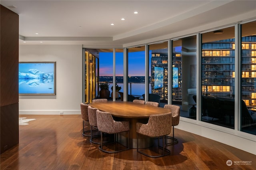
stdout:
<svg viewBox="0 0 256 170">
<path fill-rule="evenodd" d="M 96 142 L 93 140 L 93 138 L 99 137 L 100 135 L 93 135 L 92 133 L 92 128 L 97 128 L 97 118 L 96 118 L 96 111 L 98 109 L 88 106 L 88 118 L 89 118 L 89 123 L 91 125 L 91 137 L 90 137 L 90 142 L 95 143 L 95 144 L 100 144 L 100 142 Z M 98 132 L 98 129 L 97 129 Z"/>
</svg>

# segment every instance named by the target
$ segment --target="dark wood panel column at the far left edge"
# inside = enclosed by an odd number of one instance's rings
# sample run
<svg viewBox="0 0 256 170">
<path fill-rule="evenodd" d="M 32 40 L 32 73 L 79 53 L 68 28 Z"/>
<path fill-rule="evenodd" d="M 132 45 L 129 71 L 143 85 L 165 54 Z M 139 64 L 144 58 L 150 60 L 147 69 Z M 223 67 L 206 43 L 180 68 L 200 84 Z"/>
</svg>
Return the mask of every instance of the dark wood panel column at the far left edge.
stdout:
<svg viewBox="0 0 256 170">
<path fill-rule="evenodd" d="M 19 16 L 0 8 L 0 153 L 19 142 Z"/>
</svg>

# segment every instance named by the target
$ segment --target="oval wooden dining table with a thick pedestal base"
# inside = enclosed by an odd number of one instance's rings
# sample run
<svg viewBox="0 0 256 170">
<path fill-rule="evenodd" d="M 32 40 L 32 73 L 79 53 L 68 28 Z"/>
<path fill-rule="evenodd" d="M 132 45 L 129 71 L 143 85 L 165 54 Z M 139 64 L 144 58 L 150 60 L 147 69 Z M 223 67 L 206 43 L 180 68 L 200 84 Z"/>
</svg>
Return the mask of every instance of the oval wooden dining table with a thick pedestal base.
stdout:
<svg viewBox="0 0 256 170">
<path fill-rule="evenodd" d="M 147 123 L 150 115 L 159 115 L 171 112 L 170 109 L 154 107 L 130 101 L 108 101 L 100 103 L 89 103 L 91 107 L 100 111 L 109 112 L 116 121 L 129 121 L 130 123 L 130 148 L 137 147 L 136 123 Z M 120 136 L 120 135 L 119 135 Z M 127 136 L 120 136 L 119 142 L 125 143 Z M 146 148 L 153 144 L 153 139 L 139 135 L 139 148 Z"/>
</svg>

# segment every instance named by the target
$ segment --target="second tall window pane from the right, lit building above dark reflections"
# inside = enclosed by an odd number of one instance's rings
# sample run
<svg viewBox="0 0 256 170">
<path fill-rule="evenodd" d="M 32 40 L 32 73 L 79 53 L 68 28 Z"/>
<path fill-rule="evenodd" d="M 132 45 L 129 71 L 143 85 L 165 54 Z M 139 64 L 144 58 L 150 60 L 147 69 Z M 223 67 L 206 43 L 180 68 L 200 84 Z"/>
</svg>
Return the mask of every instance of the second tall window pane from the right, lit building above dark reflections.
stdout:
<svg viewBox="0 0 256 170">
<path fill-rule="evenodd" d="M 234 27 L 202 34 L 201 121 L 234 128 Z"/>
</svg>

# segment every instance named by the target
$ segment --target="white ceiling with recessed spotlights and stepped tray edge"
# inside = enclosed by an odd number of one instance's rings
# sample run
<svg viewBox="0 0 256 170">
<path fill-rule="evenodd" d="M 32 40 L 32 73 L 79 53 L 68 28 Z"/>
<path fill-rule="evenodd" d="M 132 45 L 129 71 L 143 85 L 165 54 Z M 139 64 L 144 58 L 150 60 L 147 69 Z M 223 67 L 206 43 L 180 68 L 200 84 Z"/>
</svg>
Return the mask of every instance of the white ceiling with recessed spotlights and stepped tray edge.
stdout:
<svg viewBox="0 0 256 170">
<path fill-rule="evenodd" d="M 1 0 L 0 4 L 19 14 L 20 44 L 121 47 L 256 9 L 254 0 Z"/>
</svg>

